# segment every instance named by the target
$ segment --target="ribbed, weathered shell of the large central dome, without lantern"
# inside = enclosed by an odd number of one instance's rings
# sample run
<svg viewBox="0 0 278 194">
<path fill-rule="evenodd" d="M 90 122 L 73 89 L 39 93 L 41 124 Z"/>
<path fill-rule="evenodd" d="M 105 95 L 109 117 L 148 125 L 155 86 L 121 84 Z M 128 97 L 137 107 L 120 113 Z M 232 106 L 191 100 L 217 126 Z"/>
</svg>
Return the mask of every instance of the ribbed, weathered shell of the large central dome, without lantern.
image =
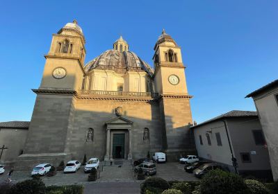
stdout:
<svg viewBox="0 0 278 194">
<path fill-rule="evenodd" d="M 126 73 L 126 71 L 147 72 L 153 76 L 154 70 L 146 62 L 142 61 L 135 53 L 131 51 L 117 51 L 111 49 L 105 51 L 97 58 L 85 64 L 85 72 L 92 69 L 114 70 L 116 73 Z"/>
</svg>

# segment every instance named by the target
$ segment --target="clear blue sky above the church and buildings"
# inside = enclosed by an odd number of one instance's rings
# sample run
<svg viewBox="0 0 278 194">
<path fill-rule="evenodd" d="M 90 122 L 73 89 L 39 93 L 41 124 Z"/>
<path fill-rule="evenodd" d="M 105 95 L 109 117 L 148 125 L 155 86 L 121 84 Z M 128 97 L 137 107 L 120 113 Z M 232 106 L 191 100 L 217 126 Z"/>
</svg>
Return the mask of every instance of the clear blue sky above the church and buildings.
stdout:
<svg viewBox="0 0 278 194">
<path fill-rule="evenodd" d="M 165 28 L 181 46 L 193 119 L 255 110 L 247 94 L 277 79 L 278 1 L 2 1 L 0 121 L 30 121 L 51 35 L 77 19 L 85 61 L 120 35 L 152 64 Z"/>
</svg>

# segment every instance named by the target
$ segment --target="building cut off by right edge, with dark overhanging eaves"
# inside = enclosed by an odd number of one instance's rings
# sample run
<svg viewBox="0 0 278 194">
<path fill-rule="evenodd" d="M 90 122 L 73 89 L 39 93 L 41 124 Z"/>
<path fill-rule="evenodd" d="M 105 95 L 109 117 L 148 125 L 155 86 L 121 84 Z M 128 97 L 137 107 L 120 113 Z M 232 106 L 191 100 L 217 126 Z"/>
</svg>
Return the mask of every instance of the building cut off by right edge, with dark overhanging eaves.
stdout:
<svg viewBox="0 0 278 194">
<path fill-rule="evenodd" d="M 268 145 L 273 178 L 278 179 L 278 80 L 271 82 L 245 98 L 252 97 Z"/>
</svg>

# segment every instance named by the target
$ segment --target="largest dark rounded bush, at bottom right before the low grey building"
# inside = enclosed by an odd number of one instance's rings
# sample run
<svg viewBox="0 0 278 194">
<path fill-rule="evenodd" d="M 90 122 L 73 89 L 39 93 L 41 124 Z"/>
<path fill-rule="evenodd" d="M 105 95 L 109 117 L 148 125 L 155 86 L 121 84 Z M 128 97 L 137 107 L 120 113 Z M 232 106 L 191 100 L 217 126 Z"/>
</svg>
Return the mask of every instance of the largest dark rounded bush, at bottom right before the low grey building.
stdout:
<svg viewBox="0 0 278 194">
<path fill-rule="evenodd" d="M 241 194 L 247 193 L 247 186 L 243 179 L 222 170 L 211 170 L 201 181 L 202 194 Z"/>
</svg>

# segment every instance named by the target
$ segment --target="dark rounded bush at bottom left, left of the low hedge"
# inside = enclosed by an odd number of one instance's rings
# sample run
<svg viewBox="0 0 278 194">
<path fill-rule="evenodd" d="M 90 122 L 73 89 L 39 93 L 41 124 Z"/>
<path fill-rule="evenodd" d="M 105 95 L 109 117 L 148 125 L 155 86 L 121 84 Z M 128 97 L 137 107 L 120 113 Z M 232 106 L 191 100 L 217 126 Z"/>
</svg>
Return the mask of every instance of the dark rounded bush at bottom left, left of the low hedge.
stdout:
<svg viewBox="0 0 278 194">
<path fill-rule="evenodd" d="M 13 194 L 44 194 L 45 186 L 40 178 L 28 179 L 24 182 L 18 182 L 10 189 Z"/>
</svg>

